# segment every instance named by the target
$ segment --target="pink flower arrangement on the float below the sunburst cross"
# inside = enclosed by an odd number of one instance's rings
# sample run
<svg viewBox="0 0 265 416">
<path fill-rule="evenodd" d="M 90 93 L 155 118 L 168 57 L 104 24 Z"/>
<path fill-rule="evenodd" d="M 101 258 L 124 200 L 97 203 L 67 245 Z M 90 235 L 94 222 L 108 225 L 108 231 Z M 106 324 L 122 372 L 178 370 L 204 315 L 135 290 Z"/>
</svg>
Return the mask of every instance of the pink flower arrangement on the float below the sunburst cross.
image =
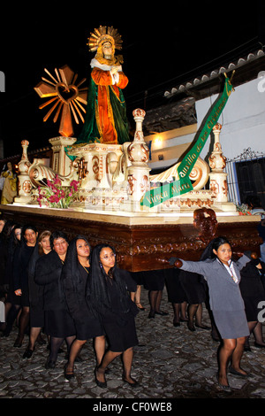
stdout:
<svg viewBox="0 0 265 416">
<path fill-rule="evenodd" d="M 59 176 L 56 174 L 54 180 L 47 180 L 45 187 L 38 187 L 37 201 L 50 208 L 68 208 L 76 201 L 79 190 L 79 181 L 71 181 L 70 185 L 64 187 Z"/>
</svg>

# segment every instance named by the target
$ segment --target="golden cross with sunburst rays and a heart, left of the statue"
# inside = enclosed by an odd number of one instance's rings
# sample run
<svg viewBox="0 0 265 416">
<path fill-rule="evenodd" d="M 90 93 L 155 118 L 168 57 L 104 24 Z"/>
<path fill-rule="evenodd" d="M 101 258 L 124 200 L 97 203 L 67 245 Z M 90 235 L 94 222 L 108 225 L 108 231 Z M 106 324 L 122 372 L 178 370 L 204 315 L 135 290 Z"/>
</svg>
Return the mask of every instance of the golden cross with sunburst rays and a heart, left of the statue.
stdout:
<svg viewBox="0 0 265 416">
<path fill-rule="evenodd" d="M 44 71 L 48 73 L 50 80 L 42 77 L 42 81 L 34 87 L 41 98 L 53 97 L 39 107 L 42 109 L 49 104 L 53 104 L 43 121 L 47 121 L 51 113 L 56 111 L 53 119 L 56 123 L 61 113 L 59 134 L 64 137 L 71 137 L 73 135 L 72 115 L 77 124 L 79 124 L 79 119 L 83 123 L 85 121 L 82 112 L 86 113 L 86 108 L 82 104 L 87 105 L 87 88 L 79 88 L 87 79 L 84 78 L 75 85 L 78 74 L 73 73 L 67 65 L 59 70 L 56 68 L 56 76 L 51 75 L 47 69 L 44 69 Z"/>
</svg>

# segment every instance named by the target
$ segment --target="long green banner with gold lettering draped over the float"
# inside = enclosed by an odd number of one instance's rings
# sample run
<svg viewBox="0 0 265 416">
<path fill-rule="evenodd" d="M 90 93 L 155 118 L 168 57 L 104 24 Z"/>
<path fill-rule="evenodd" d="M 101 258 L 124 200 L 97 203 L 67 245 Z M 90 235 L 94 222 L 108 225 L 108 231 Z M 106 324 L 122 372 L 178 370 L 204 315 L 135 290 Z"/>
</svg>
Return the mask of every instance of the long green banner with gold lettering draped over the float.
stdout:
<svg viewBox="0 0 265 416">
<path fill-rule="evenodd" d="M 178 166 L 179 179 L 177 181 L 166 183 L 160 187 L 150 189 L 145 193 L 144 196 L 142 196 L 140 200 L 141 205 L 146 205 L 151 208 L 155 205 L 162 204 L 167 199 L 170 199 L 174 196 L 186 194 L 186 192 L 193 190 L 193 184 L 189 178 L 189 175 L 201 154 L 201 150 L 207 142 L 208 135 L 210 134 L 212 128 L 216 125 L 217 120 L 223 112 L 223 108 L 227 103 L 229 96 L 231 95 L 232 89 L 231 81 L 225 75 L 225 83 L 222 95 L 216 100 L 216 103 L 210 110 L 209 115 L 201 129 L 201 133 L 196 142 L 193 144 L 192 149 L 188 151 Z"/>
</svg>

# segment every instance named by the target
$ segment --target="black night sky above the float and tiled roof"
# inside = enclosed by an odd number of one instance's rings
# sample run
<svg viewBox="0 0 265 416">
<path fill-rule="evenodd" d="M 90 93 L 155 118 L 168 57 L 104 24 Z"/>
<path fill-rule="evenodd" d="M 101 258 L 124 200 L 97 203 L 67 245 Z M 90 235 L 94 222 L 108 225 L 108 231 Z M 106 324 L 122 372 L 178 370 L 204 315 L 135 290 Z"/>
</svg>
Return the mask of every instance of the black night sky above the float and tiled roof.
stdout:
<svg viewBox="0 0 265 416">
<path fill-rule="evenodd" d="M 84 2 L 70 6 L 45 2 L 34 4 L 32 10 L 16 8 L 15 13 L 6 6 L 1 16 L 0 56 L 0 71 L 5 75 L 5 92 L 0 94 L 4 157 L 20 154 L 23 139 L 29 141 L 30 150 L 36 150 L 58 135 L 58 122 L 54 124 L 52 117 L 43 122 L 49 107 L 39 110 L 44 100 L 34 87 L 42 76 L 47 78 L 44 68 L 54 74 L 63 65 L 78 73 L 79 80 L 88 79 L 95 54 L 88 51 L 87 37 L 95 27 L 113 26 L 122 36 L 123 50 L 117 53 L 124 56 L 123 70 L 129 78 L 124 90 L 129 119 L 137 107 L 148 111 L 163 105 L 166 89 L 265 44 L 265 12 L 258 2 L 246 10 L 241 10 L 241 2 L 147 4 L 119 2 L 105 8 L 98 2 L 99 10 Z M 73 123 L 73 128 L 78 136 L 81 125 Z"/>
</svg>

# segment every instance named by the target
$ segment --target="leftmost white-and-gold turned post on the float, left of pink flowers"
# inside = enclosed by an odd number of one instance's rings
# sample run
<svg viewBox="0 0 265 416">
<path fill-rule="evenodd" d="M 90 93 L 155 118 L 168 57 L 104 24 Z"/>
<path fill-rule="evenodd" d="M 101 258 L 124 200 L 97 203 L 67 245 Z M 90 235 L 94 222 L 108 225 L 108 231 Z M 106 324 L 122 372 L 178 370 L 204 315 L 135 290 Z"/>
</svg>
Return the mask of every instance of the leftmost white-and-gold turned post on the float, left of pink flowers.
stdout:
<svg viewBox="0 0 265 416">
<path fill-rule="evenodd" d="M 27 158 L 27 148 L 28 148 L 27 140 L 22 140 L 22 158 L 19 162 L 19 175 L 18 175 L 18 189 L 19 189 L 19 196 L 14 198 L 14 204 L 29 204 L 32 200 L 31 192 L 33 189 L 32 183 L 30 181 L 28 175 L 28 169 L 31 166 L 30 161 Z"/>
</svg>

